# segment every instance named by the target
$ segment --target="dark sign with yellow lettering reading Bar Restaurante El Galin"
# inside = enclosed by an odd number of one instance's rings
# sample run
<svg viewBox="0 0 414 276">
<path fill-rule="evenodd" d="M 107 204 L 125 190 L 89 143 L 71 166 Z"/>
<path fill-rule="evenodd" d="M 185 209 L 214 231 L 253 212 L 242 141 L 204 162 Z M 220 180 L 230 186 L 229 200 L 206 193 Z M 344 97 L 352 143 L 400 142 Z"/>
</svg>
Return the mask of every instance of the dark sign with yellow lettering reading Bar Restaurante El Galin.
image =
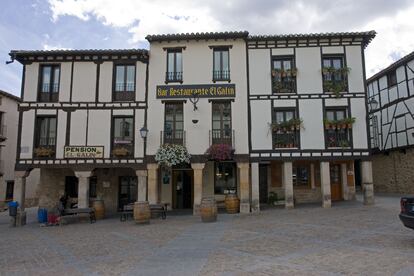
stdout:
<svg viewBox="0 0 414 276">
<path fill-rule="evenodd" d="M 235 84 L 157 85 L 157 99 L 236 97 Z"/>
</svg>

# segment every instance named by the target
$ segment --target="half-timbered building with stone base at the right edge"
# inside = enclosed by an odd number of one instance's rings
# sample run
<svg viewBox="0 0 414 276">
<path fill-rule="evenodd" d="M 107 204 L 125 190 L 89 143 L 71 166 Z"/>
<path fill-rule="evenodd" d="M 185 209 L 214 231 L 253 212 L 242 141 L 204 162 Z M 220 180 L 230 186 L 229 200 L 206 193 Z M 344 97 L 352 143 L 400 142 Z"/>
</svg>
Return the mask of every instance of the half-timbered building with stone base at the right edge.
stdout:
<svg viewBox="0 0 414 276">
<path fill-rule="evenodd" d="M 375 189 L 414 193 L 414 52 L 367 80 Z"/>
</svg>

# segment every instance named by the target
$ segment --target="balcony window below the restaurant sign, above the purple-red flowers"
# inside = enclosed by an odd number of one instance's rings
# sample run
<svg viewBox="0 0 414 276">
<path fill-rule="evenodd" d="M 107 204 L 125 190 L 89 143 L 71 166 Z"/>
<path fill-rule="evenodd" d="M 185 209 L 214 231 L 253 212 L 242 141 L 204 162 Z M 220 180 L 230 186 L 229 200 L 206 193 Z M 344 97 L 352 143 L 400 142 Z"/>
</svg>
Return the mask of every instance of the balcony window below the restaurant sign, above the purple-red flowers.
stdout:
<svg viewBox="0 0 414 276">
<path fill-rule="evenodd" d="M 232 145 L 231 102 L 213 102 L 212 118 L 212 143 Z"/>
</svg>

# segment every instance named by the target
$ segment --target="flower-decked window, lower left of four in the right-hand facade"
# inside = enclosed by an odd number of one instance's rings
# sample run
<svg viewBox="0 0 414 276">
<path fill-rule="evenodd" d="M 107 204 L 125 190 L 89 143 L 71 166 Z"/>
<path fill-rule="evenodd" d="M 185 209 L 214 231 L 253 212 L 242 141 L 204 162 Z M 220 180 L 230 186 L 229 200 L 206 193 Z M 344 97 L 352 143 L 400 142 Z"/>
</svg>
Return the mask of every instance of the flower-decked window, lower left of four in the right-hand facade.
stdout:
<svg viewBox="0 0 414 276">
<path fill-rule="evenodd" d="M 300 123 L 297 126 L 295 109 L 274 109 L 272 117 L 273 148 L 299 147 Z"/>
</svg>

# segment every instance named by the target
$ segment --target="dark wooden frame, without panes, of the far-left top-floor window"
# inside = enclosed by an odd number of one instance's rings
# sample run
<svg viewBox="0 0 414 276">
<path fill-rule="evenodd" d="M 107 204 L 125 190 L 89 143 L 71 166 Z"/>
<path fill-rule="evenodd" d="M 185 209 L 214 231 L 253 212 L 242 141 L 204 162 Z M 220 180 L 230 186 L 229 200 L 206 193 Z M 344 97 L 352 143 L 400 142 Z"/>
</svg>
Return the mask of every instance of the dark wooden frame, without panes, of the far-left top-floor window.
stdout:
<svg viewBox="0 0 414 276">
<path fill-rule="evenodd" d="M 50 80 L 49 80 L 49 91 L 43 92 L 43 71 L 45 68 L 50 67 Z M 55 69 L 59 69 L 59 79 L 57 80 L 57 91 L 53 92 L 54 83 L 56 80 L 55 76 Z M 60 91 L 60 79 L 61 79 L 62 71 L 60 68 L 60 64 L 41 64 L 39 67 L 39 85 L 38 85 L 38 93 L 37 93 L 37 100 L 38 102 L 58 102 L 59 101 L 59 91 Z"/>
</svg>

